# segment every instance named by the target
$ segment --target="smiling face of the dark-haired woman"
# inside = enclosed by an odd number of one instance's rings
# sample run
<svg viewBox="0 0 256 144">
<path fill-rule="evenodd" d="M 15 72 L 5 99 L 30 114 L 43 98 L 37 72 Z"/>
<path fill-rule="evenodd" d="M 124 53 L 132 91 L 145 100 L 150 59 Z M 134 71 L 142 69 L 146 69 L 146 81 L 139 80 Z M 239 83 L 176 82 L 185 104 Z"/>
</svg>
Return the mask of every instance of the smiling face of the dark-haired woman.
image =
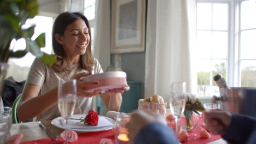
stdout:
<svg viewBox="0 0 256 144">
<path fill-rule="evenodd" d="M 89 29 L 83 19 L 68 25 L 62 36 L 62 46 L 67 57 L 84 55 L 89 42 Z"/>
</svg>

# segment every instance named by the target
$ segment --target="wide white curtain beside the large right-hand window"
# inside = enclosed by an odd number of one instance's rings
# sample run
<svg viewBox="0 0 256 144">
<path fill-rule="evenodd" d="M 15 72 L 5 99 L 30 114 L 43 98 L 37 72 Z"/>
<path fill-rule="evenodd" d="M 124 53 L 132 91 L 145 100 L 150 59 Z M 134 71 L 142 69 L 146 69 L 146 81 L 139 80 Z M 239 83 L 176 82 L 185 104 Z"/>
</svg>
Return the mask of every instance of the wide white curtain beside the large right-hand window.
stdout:
<svg viewBox="0 0 256 144">
<path fill-rule="evenodd" d="M 158 93 L 167 100 L 173 81 L 196 93 L 195 0 L 149 0 L 147 11 L 145 98 Z"/>
</svg>

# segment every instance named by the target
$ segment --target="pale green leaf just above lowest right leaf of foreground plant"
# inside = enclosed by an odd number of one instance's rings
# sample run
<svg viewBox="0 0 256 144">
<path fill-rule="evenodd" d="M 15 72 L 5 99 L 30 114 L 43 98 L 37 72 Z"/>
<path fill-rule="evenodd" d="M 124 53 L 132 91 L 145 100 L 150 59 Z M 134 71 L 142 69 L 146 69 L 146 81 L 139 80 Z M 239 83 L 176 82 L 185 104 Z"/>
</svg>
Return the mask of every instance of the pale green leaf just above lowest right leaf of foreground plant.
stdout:
<svg viewBox="0 0 256 144">
<path fill-rule="evenodd" d="M 40 47 L 36 41 L 31 39 L 26 39 L 26 50 L 31 52 L 36 57 L 42 57 L 44 54 L 42 51 L 40 51 Z"/>
</svg>

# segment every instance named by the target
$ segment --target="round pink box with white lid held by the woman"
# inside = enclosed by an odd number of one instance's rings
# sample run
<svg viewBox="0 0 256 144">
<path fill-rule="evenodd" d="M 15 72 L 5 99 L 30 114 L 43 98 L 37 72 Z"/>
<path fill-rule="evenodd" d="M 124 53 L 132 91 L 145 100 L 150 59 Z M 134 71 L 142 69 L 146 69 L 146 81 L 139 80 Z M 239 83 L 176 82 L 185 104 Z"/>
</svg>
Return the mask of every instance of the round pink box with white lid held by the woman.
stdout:
<svg viewBox="0 0 256 144">
<path fill-rule="evenodd" d="M 108 71 L 101 74 L 88 75 L 83 81 L 98 81 L 97 86 L 91 87 L 90 92 L 101 89 L 101 93 L 105 93 L 109 89 L 127 87 L 126 73 L 123 71 Z"/>
</svg>

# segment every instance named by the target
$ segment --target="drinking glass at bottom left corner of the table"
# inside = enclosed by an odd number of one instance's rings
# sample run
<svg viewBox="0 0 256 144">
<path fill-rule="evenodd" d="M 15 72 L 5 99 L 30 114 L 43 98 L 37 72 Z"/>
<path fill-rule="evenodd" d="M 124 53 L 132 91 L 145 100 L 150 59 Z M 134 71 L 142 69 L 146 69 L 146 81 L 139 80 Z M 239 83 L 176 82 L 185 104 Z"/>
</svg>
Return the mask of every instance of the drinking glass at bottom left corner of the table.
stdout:
<svg viewBox="0 0 256 144">
<path fill-rule="evenodd" d="M 0 142 L 10 136 L 10 128 L 13 124 L 11 107 L 0 107 Z"/>
</svg>

